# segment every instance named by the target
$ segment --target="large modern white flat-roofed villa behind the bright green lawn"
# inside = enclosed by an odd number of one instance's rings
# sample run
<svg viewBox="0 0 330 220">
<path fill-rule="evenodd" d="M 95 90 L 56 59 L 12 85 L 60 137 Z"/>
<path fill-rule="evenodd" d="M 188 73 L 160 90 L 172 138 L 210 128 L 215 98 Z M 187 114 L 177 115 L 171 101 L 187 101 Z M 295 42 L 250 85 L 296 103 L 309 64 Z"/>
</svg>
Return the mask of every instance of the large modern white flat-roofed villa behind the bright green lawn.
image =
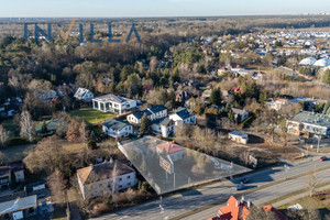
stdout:
<svg viewBox="0 0 330 220">
<path fill-rule="evenodd" d="M 103 112 L 124 113 L 136 108 L 136 100 L 112 94 L 92 99 L 92 108 Z"/>
</svg>

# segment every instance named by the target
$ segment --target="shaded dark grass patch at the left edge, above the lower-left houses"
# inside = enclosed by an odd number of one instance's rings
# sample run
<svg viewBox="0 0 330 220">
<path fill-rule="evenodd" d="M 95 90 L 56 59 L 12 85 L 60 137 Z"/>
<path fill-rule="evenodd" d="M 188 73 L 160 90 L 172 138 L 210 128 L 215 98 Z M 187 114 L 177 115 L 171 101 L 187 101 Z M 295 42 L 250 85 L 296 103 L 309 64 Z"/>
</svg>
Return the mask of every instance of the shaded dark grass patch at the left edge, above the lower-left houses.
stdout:
<svg viewBox="0 0 330 220">
<path fill-rule="evenodd" d="M 0 162 L 10 163 L 23 160 L 29 152 L 33 151 L 34 144 L 9 146 L 0 150 Z"/>
</svg>

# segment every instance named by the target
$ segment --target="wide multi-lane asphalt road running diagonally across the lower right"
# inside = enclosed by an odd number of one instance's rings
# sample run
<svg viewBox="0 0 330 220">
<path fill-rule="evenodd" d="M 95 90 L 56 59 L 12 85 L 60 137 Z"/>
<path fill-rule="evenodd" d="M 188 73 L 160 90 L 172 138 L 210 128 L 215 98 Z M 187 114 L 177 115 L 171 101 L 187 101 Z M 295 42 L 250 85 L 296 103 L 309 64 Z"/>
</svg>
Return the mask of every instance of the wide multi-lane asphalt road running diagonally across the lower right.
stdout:
<svg viewBox="0 0 330 220">
<path fill-rule="evenodd" d="M 288 164 L 285 168 L 284 166 L 272 167 L 270 169 L 252 173 L 245 175 L 252 182 L 246 185 L 246 189 L 252 189 L 255 187 L 263 186 L 265 184 L 285 179 L 287 177 L 296 176 L 309 170 L 315 167 L 321 168 L 330 166 L 330 161 L 320 162 L 317 157 L 315 161 L 305 161 L 297 164 Z M 318 173 L 319 183 L 330 182 L 330 168 Z M 160 207 L 161 200 L 153 200 L 143 205 L 139 205 L 132 208 L 122 209 L 120 211 L 105 215 L 102 217 L 94 218 L 96 220 L 123 220 L 123 219 L 147 219 L 147 220 L 160 220 L 160 219 L 170 219 L 179 215 L 186 213 L 190 210 L 204 207 L 206 205 L 220 201 L 222 199 L 228 199 L 231 195 L 238 194 L 234 186 L 239 179 L 233 179 L 232 182 L 221 182 L 209 186 L 201 187 L 199 189 L 189 190 L 183 194 L 176 194 L 169 197 L 163 198 L 163 210 Z M 284 195 L 294 193 L 296 190 L 307 187 L 307 176 L 298 177 L 295 179 L 289 179 L 283 183 L 275 184 L 273 186 L 261 188 L 254 193 L 248 194 L 245 199 L 251 199 L 253 204 L 258 205 L 263 202 L 271 201 Z M 241 191 L 240 191 L 241 193 Z M 219 206 L 206 209 L 196 215 L 189 216 L 186 219 L 208 219 L 216 216 L 217 208 Z"/>
</svg>

